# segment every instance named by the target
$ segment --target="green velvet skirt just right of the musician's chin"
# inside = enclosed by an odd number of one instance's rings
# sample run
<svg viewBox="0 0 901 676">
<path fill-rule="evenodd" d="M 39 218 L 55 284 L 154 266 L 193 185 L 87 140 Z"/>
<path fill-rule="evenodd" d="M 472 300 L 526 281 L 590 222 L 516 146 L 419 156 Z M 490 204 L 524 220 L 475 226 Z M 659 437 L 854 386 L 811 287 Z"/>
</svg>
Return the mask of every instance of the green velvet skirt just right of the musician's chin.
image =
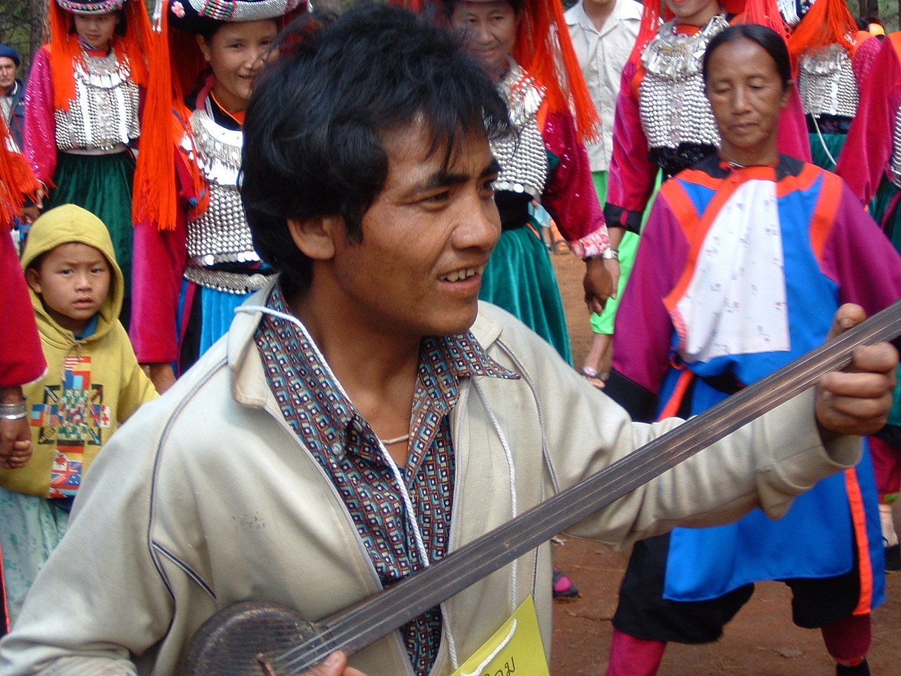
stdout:
<svg viewBox="0 0 901 676">
<path fill-rule="evenodd" d="M 572 364 L 557 275 L 547 247 L 531 228 L 501 233 L 482 276 L 478 297 L 503 307 Z"/>
</svg>

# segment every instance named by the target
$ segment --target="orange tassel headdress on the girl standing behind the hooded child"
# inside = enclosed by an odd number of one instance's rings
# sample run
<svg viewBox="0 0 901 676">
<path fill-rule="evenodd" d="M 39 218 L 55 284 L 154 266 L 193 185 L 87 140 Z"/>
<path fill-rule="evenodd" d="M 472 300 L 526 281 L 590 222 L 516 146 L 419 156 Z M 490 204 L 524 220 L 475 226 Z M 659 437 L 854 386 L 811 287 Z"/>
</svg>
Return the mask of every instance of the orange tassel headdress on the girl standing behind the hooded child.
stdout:
<svg viewBox="0 0 901 676">
<path fill-rule="evenodd" d="M 150 19 L 141 0 L 103 0 L 74 2 L 50 0 L 50 72 L 53 77 L 53 107 L 68 110 L 75 99 L 73 64 L 84 66 L 85 55 L 78 44 L 72 14 L 111 14 L 122 12 L 125 34 L 114 35 L 113 47 L 128 59 L 135 84 L 146 87 L 148 70 L 146 54 L 150 50 Z"/>
</svg>

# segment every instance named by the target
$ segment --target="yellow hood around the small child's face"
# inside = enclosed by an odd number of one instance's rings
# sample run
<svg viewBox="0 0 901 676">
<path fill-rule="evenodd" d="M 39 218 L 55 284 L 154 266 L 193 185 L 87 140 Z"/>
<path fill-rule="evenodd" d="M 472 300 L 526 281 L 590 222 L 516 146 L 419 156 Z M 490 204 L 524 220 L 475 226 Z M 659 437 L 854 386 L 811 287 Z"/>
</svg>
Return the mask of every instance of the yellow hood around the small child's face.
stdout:
<svg viewBox="0 0 901 676">
<path fill-rule="evenodd" d="M 41 254 L 52 251 L 60 244 L 67 244 L 68 242 L 80 242 L 94 247 L 104 254 L 107 262 L 110 264 L 110 290 L 103 306 L 100 307 L 100 312 L 98 313 L 100 315 L 99 321 L 92 336 L 92 338 L 100 338 L 108 333 L 118 321 L 124 296 L 122 270 L 119 269 L 119 265 L 115 261 L 113 240 L 110 239 L 110 233 L 103 221 L 86 209 L 76 205 L 63 205 L 50 209 L 32 224 L 32 228 L 28 233 L 28 239 L 25 242 L 25 251 L 23 251 L 22 255 L 22 269 L 28 269 L 32 260 L 41 256 Z M 41 333 L 44 333 L 45 337 L 50 338 L 48 333 L 50 333 L 49 329 L 52 328 L 53 333 L 59 333 L 59 338 L 65 339 L 66 343 L 73 341 L 72 332 L 63 329 L 44 311 L 41 297 L 31 287 L 29 287 L 28 291 L 32 297 L 32 306 L 34 306 Z M 91 340 L 91 338 L 88 340 Z"/>
</svg>

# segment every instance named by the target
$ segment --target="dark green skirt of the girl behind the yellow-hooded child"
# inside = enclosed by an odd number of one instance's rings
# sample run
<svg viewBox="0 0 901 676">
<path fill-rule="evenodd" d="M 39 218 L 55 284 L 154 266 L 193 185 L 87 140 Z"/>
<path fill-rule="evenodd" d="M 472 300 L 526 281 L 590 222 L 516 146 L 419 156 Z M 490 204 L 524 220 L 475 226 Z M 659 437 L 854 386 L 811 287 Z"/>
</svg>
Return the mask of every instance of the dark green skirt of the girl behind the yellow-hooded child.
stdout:
<svg viewBox="0 0 901 676">
<path fill-rule="evenodd" d="M 57 153 L 55 188 L 44 209 L 77 205 L 96 215 L 113 239 L 116 263 L 125 279 L 125 298 L 132 297 L 132 184 L 134 157 L 129 151 L 113 155 Z M 127 307 L 127 306 L 126 306 Z"/>
</svg>

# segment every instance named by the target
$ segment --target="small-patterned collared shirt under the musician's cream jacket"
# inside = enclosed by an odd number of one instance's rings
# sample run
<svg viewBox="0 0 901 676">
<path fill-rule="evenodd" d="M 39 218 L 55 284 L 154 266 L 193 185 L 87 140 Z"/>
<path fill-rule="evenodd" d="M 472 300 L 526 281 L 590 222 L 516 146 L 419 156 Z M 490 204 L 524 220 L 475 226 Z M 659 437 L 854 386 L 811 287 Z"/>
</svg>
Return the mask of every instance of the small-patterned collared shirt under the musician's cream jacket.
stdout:
<svg viewBox="0 0 901 676">
<path fill-rule="evenodd" d="M 267 306 L 289 312 L 280 286 L 273 288 Z M 410 516 L 378 437 L 341 393 L 304 332 L 292 322 L 264 315 L 254 340 L 282 415 L 341 494 L 378 580 L 387 587 L 421 570 Z M 473 376 L 519 378 L 488 357 L 471 333 L 423 338 L 408 456 L 401 472 L 430 561 L 444 556 L 451 533 L 454 450 L 449 414 L 460 397 L 460 379 Z M 426 611 L 401 631 L 414 671 L 424 676 L 441 644 L 441 607 Z"/>
</svg>

